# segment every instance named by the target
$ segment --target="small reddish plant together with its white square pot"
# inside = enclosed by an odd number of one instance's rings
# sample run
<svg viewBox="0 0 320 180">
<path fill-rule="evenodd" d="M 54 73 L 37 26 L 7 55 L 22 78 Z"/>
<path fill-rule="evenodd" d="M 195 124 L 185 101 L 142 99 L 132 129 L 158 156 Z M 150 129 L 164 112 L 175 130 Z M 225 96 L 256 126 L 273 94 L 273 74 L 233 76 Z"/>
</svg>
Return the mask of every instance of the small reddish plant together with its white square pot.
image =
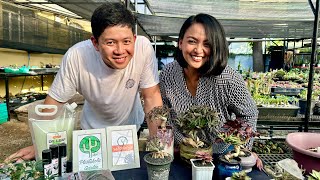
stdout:
<svg viewBox="0 0 320 180">
<path fill-rule="evenodd" d="M 197 159 L 190 159 L 192 180 L 211 180 L 214 170 L 212 155 L 208 152 L 196 152 Z"/>
</svg>

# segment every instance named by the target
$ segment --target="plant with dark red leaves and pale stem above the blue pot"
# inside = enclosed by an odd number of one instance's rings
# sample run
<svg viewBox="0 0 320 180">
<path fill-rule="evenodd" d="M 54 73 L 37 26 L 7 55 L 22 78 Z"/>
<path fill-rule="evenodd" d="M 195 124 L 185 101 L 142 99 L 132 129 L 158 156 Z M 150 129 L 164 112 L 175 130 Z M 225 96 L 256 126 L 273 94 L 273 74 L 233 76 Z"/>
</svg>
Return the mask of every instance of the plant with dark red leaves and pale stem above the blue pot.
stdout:
<svg viewBox="0 0 320 180">
<path fill-rule="evenodd" d="M 231 159 L 238 156 L 245 156 L 243 148 L 251 138 L 259 136 L 259 133 L 253 132 L 252 127 L 244 120 L 228 120 L 222 126 L 222 132 L 218 134 L 218 141 L 223 141 L 234 146 L 234 152 L 228 152 L 224 158 L 230 162 Z"/>
</svg>

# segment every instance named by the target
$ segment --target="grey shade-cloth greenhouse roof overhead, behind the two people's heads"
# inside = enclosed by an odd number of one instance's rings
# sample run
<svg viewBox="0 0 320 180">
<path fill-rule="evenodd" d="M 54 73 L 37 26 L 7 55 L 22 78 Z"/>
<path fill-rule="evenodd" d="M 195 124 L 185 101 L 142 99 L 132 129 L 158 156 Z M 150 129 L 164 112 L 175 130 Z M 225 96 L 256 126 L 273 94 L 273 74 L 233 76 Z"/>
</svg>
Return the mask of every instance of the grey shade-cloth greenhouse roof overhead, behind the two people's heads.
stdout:
<svg viewBox="0 0 320 180">
<path fill-rule="evenodd" d="M 93 10 L 101 3 L 123 2 L 123 0 L 49 1 L 88 20 Z M 150 36 L 176 36 L 184 20 L 197 13 L 208 13 L 216 17 L 230 38 L 301 39 L 313 36 L 314 15 L 310 2 L 315 4 L 315 0 L 144 0 L 143 2 L 152 15 L 137 14 L 137 19 Z"/>
</svg>

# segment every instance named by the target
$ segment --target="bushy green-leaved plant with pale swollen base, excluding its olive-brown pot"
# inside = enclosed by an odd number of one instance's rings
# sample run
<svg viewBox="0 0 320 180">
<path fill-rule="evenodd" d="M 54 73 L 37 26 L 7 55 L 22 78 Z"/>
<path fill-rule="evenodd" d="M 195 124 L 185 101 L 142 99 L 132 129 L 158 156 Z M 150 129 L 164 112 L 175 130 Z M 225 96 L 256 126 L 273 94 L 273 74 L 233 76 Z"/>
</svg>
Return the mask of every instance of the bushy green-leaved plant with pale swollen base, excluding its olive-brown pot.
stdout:
<svg viewBox="0 0 320 180">
<path fill-rule="evenodd" d="M 176 125 L 186 136 L 183 143 L 194 148 L 205 145 L 202 139 L 208 139 L 207 134 L 216 132 L 219 120 L 219 113 L 207 106 L 190 107 L 188 111 L 175 119 Z"/>
</svg>

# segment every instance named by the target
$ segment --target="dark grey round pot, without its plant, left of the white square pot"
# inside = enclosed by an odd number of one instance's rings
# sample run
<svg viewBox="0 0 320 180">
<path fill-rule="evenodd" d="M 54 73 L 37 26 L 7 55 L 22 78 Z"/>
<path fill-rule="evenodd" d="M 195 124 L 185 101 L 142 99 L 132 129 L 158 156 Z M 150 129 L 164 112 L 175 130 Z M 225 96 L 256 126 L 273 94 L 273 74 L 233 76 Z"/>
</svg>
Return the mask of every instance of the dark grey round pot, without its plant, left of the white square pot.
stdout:
<svg viewBox="0 0 320 180">
<path fill-rule="evenodd" d="M 152 158 L 152 153 L 148 153 L 143 157 L 147 163 L 148 179 L 149 180 L 167 180 L 169 179 L 170 165 L 173 161 L 173 156 L 161 158 Z"/>
</svg>

